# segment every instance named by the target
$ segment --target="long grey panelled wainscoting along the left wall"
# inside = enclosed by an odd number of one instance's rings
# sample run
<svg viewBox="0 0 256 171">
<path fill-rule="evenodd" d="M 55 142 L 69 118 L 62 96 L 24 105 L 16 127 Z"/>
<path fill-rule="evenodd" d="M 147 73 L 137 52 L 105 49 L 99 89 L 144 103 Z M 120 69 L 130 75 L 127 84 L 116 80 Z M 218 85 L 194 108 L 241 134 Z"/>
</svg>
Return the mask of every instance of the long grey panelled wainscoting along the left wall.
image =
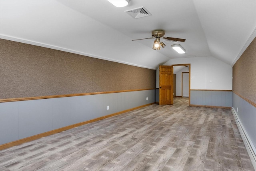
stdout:
<svg viewBox="0 0 256 171">
<path fill-rule="evenodd" d="M 155 101 L 156 90 L 152 89 L 3 102 L 0 103 L 0 145 Z"/>
</svg>

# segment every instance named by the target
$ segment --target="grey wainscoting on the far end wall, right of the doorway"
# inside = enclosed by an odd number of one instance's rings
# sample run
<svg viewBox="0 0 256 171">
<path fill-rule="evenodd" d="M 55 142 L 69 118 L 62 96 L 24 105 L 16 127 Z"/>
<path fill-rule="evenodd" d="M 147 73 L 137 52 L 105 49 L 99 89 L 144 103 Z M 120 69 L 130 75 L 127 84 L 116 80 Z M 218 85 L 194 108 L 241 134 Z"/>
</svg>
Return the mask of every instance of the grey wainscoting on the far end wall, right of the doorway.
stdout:
<svg viewBox="0 0 256 171">
<path fill-rule="evenodd" d="M 232 107 L 232 91 L 190 90 L 190 104 Z"/>
</svg>

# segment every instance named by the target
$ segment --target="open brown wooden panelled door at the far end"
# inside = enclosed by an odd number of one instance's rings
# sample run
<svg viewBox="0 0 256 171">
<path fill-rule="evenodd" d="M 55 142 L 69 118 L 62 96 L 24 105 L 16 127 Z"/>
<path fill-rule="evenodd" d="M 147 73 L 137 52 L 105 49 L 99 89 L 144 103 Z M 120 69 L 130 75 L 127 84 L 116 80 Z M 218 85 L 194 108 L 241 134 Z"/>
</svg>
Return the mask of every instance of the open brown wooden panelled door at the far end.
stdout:
<svg viewBox="0 0 256 171">
<path fill-rule="evenodd" d="M 159 66 L 159 105 L 173 104 L 173 66 Z"/>
</svg>

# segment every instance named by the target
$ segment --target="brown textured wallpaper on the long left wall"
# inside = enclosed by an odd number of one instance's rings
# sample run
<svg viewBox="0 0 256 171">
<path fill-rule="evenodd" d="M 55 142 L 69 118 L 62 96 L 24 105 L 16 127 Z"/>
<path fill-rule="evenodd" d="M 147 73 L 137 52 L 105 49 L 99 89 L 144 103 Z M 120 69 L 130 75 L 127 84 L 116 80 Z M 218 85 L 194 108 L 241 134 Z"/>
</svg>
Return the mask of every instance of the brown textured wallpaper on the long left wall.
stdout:
<svg viewBox="0 0 256 171">
<path fill-rule="evenodd" d="M 0 99 L 155 87 L 155 70 L 0 39 Z"/>
</svg>

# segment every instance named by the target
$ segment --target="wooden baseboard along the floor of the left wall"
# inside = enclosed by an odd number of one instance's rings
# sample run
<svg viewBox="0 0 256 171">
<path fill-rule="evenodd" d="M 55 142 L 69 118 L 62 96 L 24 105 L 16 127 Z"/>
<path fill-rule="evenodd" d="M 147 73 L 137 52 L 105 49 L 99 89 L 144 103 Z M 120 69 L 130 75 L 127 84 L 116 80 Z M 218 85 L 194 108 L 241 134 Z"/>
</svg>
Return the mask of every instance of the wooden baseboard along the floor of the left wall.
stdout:
<svg viewBox="0 0 256 171">
<path fill-rule="evenodd" d="M 38 134 L 38 135 L 33 135 L 33 136 L 31 136 L 31 137 L 26 137 L 26 138 L 23 138 L 23 139 L 19 139 L 19 140 L 16 140 L 16 141 L 12 141 L 12 142 L 10 142 L 10 143 L 2 144 L 2 145 L 0 145 L 0 150 L 9 148 L 9 147 L 12 147 L 12 146 L 15 146 L 15 145 L 20 145 L 20 144 L 22 144 L 22 143 L 26 143 L 26 142 L 29 142 L 29 141 L 33 141 L 33 140 L 35 140 L 35 139 L 39 139 L 39 138 L 42 138 L 42 137 L 46 137 L 46 136 L 52 135 L 52 134 L 54 134 L 54 133 L 59 133 L 59 132 L 62 132 L 62 131 L 66 131 L 66 130 L 72 129 L 72 128 L 74 128 L 74 127 L 79 127 L 79 126 L 85 125 L 85 124 L 87 124 L 87 123 L 92 123 L 92 122 L 99 121 L 99 120 L 102 120 L 102 119 L 105 119 L 105 118 L 108 118 L 108 117 L 112 117 L 112 116 L 115 116 L 115 115 L 120 115 L 120 114 L 122 114 L 122 113 L 125 113 L 125 112 L 128 112 L 128 111 L 132 111 L 132 110 L 135 110 L 135 109 L 138 109 L 138 108 L 141 108 L 141 107 L 145 107 L 145 106 L 148 106 L 148 105 L 152 105 L 152 104 L 155 104 L 155 103 L 149 103 L 149 104 L 146 104 L 146 105 L 134 107 L 134 108 L 132 108 L 132 109 L 127 109 L 127 110 L 124 110 L 124 111 L 119 111 L 119 112 L 117 112 L 117 113 L 112 113 L 112 114 L 110 114 L 110 115 L 106 115 L 106 116 L 102 116 L 102 117 L 97 117 L 97 118 L 95 118 L 95 119 L 91 119 L 91 120 L 88 120 L 88 121 L 76 123 L 76 124 L 69 125 L 69 126 L 66 126 L 66 127 L 54 129 L 54 130 L 52 130 L 52 131 L 40 133 L 40 134 Z"/>
</svg>

